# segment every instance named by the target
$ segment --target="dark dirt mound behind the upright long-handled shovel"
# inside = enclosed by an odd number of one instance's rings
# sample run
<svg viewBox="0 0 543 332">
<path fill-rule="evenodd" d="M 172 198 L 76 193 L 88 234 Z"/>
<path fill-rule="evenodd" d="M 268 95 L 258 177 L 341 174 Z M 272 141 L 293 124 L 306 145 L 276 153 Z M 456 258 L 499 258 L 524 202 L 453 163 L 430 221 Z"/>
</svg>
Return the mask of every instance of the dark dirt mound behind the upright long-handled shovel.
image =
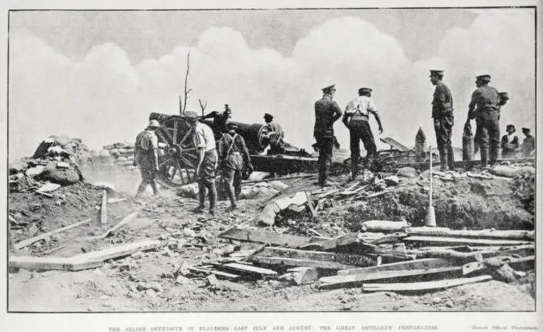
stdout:
<svg viewBox="0 0 543 332">
<path fill-rule="evenodd" d="M 367 202 L 350 205 L 338 213 L 353 231 L 371 219 L 404 217 L 422 226 L 428 197 L 428 180 L 386 193 Z M 434 180 L 434 208 L 438 226 L 451 229 L 533 229 L 534 215 L 525 210 L 525 198 L 515 196 L 513 181 L 506 179 Z"/>
</svg>

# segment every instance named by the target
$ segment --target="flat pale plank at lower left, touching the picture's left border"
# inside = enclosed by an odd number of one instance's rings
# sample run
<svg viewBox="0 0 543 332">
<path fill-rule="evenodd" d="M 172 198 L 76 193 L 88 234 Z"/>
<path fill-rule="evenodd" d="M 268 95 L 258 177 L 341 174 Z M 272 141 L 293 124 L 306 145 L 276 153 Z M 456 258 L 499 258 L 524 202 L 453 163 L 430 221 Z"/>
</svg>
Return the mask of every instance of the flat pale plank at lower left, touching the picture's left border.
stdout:
<svg viewBox="0 0 543 332">
<path fill-rule="evenodd" d="M 103 265 L 102 260 L 85 260 L 75 257 L 15 256 L 9 258 L 9 267 L 20 269 L 80 271 Z"/>
</svg>

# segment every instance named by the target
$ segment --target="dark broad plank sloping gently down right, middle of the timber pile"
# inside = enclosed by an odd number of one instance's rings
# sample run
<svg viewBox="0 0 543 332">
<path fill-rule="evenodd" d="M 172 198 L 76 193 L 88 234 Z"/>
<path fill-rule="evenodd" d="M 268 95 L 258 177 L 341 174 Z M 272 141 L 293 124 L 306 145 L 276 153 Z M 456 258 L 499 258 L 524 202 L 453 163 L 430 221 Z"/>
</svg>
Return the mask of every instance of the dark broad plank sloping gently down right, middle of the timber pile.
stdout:
<svg viewBox="0 0 543 332">
<path fill-rule="evenodd" d="M 341 253 L 327 253 L 327 252 L 322 252 L 322 251 L 307 251 L 307 250 L 296 250 L 296 249 L 288 249 L 288 248 L 275 248 L 275 247 L 264 248 L 264 250 L 262 250 L 262 252 L 259 253 L 258 256 L 260 257 L 287 257 L 287 258 L 295 258 L 297 260 L 337 262 L 341 264 L 358 265 L 362 267 L 368 267 L 368 266 L 372 266 L 376 264 L 375 257 L 341 254 Z"/>
</svg>

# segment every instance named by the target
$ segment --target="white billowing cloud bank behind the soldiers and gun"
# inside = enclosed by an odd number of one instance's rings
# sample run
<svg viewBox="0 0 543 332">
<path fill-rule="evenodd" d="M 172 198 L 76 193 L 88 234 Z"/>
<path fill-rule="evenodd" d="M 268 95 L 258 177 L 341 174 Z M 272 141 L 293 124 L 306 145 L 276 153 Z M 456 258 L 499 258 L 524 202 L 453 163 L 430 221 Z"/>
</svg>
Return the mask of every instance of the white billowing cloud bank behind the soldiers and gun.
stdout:
<svg viewBox="0 0 543 332">
<path fill-rule="evenodd" d="M 424 29 L 420 34 L 424 46 Z M 466 29 L 451 29 L 432 58 L 412 63 L 396 39 L 365 20 L 334 18 L 298 40 L 291 56 L 273 49 L 250 49 L 240 32 L 209 28 L 196 44 L 178 46 L 157 59 L 130 63 L 115 44 L 94 46 L 81 60 L 58 53 L 41 39 L 10 33 L 10 160 L 31 155 L 51 134 L 79 137 L 90 148 L 133 141 L 151 112 L 178 112 L 190 49 L 188 109 L 200 112 L 230 104 L 235 120 L 262 122 L 264 113 L 286 130 L 286 139 L 310 147 L 313 105 L 320 89 L 336 84 L 343 109 L 359 87 L 371 87 L 381 111 L 384 134 L 411 146 L 418 127 L 435 141 L 431 125 L 430 68 L 445 70 L 453 93 L 460 146 L 475 75 L 492 75 L 491 85 L 508 91 L 501 127 L 535 124 L 533 13 L 489 10 Z M 417 46 L 415 46 L 417 47 Z M 371 122 L 378 142 L 377 125 Z M 336 135 L 348 147 L 348 132 L 336 122 Z M 379 145 L 379 142 L 378 142 Z"/>
</svg>

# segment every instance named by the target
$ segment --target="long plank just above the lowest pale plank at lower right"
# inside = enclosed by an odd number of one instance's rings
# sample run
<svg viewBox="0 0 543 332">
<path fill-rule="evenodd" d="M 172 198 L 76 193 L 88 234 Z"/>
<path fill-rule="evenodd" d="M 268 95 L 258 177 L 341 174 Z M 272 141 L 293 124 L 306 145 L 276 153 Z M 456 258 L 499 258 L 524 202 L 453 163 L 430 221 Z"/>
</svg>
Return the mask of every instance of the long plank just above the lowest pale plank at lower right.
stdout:
<svg viewBox="0 0 543 332">
<path fill-rule="evenodd" d="M 480 264 L 481 268 L 484 266 L 482 263 L 478 264 Z M 350 274 L 348 276 L 325 276 L 319 279 L 322 283 L 319 285 L 319 288 L 333 289 L 358 287 L 365 283 L 375 283 L 377 281 L 389 283 L 412 279 L 413 277 L 419 279 L 422 276 L 435 276 L 439 278 L 446 276 L 448 278 L 458 278 L 463 276 L 463 267 L 439 267 L 437 269 L 395 270 L 374 272 L 370 274 Z"/>
</svg>

